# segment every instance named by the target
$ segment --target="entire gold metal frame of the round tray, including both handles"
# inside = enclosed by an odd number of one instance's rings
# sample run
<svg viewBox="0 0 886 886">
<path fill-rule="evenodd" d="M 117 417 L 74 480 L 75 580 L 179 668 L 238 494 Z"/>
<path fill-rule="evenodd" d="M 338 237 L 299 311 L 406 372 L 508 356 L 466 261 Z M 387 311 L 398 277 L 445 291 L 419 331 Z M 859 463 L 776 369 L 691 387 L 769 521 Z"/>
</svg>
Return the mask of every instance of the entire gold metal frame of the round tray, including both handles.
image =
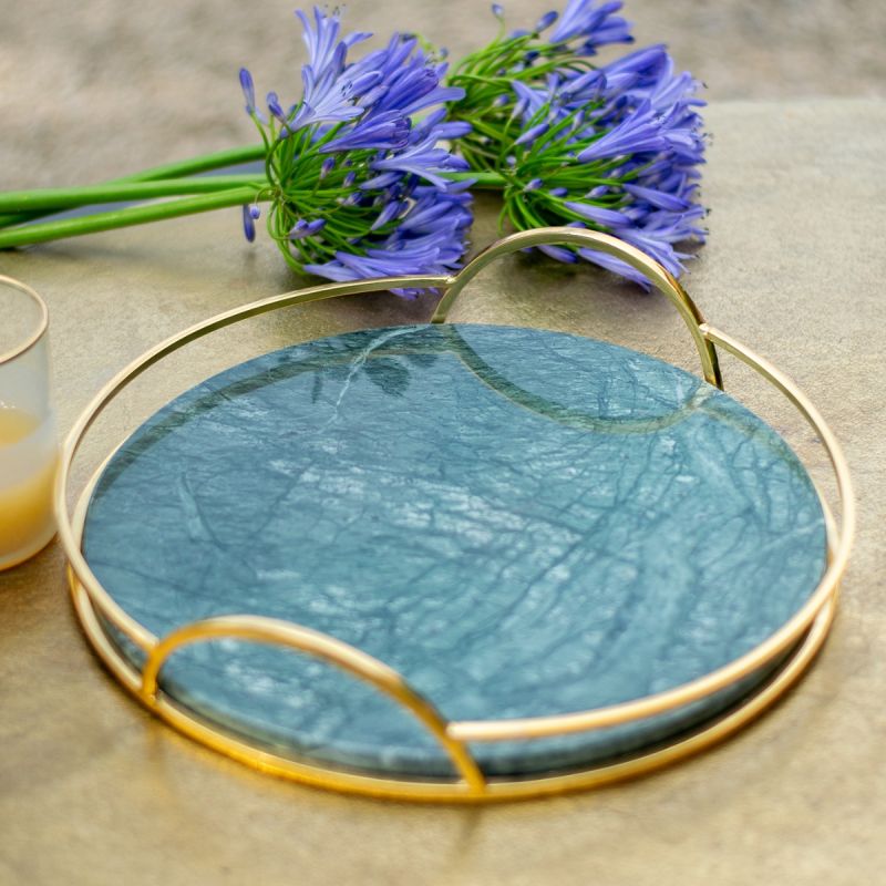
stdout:
<svg viewBox="0 0 886 886">
<path fill-rule="evenodd" d="M 81 543 L 90 495 L 102 465 L 82 491 L 73 514 L 68 508 L 71 465 L 83 437 L 114 396 L 154 363 L 210 332 L 268 311 L 309 301 L 375 291 L 392 287 L 437 288 L 443 291 L 432 322 L 445 322 L 465 285 L 495 259 L 542 244 L 589 247 L 626 261 L 642 272 L 674 306 L 696 344 L 705 381 L 722 389 L 717 346 L 754 369 L 784 394 L 812 426 L 825 447 L 836 478 L 839 519 L 835 522 L 818 493 L 827 527 L 827 567 L 804 606 L 772 636 L 729 664 L 691 682 L 635 701 L 547 717 L 508 720 L 450 721 L 406 679 L 372 656 L 332 636 L 280 619 L 233 615 L 190 622 L 163 638 L 155 637 L 123 610 L 99 583 L 83 557 Z M 110 459 L 110 456 L 109 456 Z M 106 464 L 106 461 L 105 461 Z M 511 235 L 481 253 L 454 276 L 414 275 L 331 284 L 287 292 L 226 311 L 157 344 L 115 375 L 93 398 L 74 423 L 62 446 L 54 491 L 59 538 L 68 557 L 68 578 L 74 609 L 102 661 L 146 708 L 184 734 L 255 769 L 315 786 L 349 793 L 414 801 L 482 803 L 564 793 L 632 777 L 697 753 L 750 722 L 803 673 L 821 648 L 834 618 L 838 584 L 846 568 L 855 532 L 855 502 L 848 467 L 839 444 L 808 398 L 750 348 L 707 323 L 677 280 L 635 247 L 606 234 L 580 228 L 539 228 Z M 103 622 L 112 625 L 145 655 L 141 670 L 120 652 Z M 285 756 L 228 732 L 178 703 L 158 686 L 159 672 L 176 650 L 218 638 L 240 638 L 271 643 L 315 657 L 365 681 L 399 702 L 433 735 L 449 755 L 455 777 L 377 776 L 319 765 Z M 774 677 L 740 705 L 664 746 L 585 770 L 533 777 L 485 775 L 468 746 L 472 742 L 503 742 L 588 732 L 642 720 L 708 698 L 754 671 L 783 661 Z"/>
</svg>

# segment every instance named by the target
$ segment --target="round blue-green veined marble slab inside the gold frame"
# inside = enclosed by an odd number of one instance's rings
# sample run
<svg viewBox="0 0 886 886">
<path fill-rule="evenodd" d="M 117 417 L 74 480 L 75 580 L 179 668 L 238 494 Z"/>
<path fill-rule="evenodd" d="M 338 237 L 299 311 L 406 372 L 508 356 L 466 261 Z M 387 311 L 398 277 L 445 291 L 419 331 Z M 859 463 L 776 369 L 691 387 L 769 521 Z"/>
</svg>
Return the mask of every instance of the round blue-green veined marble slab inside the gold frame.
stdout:
<svg viewBox="0 0 886 886">
<path fill-rule="evenodd" d="M 584 710 L 709 673 L 802 606 L 825 549 L 806 472 L 729 395 L 612 344 L 463 324 L 293 346 L 197 385 L 114 455 L 84 536 L 99 579 L 158 636 L 284 618 L 389 663 L 453 720 Z M 472 750 L 491 774 L 586 765 L 765 676 L 624 727 Z M 392 701 L 290 650 L 202 643 L 161 683 L 275 749 L 451 772 Z"/>
</svg>

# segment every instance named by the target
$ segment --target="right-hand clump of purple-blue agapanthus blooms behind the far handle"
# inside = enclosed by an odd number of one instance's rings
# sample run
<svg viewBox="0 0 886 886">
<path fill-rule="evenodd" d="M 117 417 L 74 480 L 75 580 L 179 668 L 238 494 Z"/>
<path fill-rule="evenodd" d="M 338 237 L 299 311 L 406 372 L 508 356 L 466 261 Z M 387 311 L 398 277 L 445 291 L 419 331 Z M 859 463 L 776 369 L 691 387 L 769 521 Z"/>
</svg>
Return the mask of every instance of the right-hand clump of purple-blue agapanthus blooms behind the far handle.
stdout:
<svg viewBox="0 0 886 886">
<path fill-rule="evenodd" d="M 674 73 L 662 45 L 595 66 L 605 43 L 630 42 L 620 2 L 569 0 L 532 31 L 499 34 L 463 60 L 451 82 L 465 89 L 453 113 L 474 128 L 460 148 L 475 168 L 506 179 L 503 216 L 517 229 L 570 225 L 614 234 L 674 276 L 677 244 L 702 241 L 697 203 L 704 162 L 699 84 Z M 503 19 L 501 7 L 493 11 Z M 646 286 L 628 265 L 588 249 L 539 247 L 578 257 Z"/>
</svg>

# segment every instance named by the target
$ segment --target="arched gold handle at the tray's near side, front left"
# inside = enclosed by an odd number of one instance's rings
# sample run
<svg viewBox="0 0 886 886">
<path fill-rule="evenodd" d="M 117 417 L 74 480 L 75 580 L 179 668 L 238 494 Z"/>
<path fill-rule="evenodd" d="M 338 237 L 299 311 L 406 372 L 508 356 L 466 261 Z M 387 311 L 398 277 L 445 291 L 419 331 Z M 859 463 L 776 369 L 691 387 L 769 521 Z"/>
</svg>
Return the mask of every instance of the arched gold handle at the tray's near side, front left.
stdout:
<svg viewBox="0 0 886 886">
<path fill-rule="evenodd" d="M 452 760 L 455 771 L 472 792 L 483 793 L 486 780 L 467 746 L 449 732 L 449 722 L 393 668 L 328 633 L 265 616 L 219 616 L 193 621 L 166 635 L 148 650 L 142 669 L 141 694 L 150 707 L 157 699 L 157 678 L 164 662 L 178 649 L 220 638 L 237 638 L 284 646 L 334 664 L 360 678 L 399 702 L 436 739 Z"/>
</svg>

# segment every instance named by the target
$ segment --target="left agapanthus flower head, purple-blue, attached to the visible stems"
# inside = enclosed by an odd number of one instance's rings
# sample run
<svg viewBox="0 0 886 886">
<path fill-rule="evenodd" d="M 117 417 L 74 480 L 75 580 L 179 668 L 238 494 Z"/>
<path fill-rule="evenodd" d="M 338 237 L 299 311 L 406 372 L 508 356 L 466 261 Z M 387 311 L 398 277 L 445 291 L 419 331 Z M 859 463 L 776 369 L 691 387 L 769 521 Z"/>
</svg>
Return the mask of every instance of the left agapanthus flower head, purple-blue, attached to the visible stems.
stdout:
<svg viewBox="0 0 886 886">
<path fill-rule="evenodd" d="M 258 200 L 269 199 L 268 230 L 299 270 L 341 281 L 457 268 L 471 198 L 465 183 L 445 176 L 468 166 L 441 143 L 470 131 L 446 120 L 446 103 L 464 91 L 444 85 L 446 64 L 415 38 L 394 34 L 349 62 L 349 50 L 370 34 L 341 35 L 338 13 L 297 14 L 309 55 L 301 100 L 284 110 L 268 93 L 264 114 L 251 75 L 240 72 L 268 179 L 244 207 L 247 237 Z"/>
</svg>

